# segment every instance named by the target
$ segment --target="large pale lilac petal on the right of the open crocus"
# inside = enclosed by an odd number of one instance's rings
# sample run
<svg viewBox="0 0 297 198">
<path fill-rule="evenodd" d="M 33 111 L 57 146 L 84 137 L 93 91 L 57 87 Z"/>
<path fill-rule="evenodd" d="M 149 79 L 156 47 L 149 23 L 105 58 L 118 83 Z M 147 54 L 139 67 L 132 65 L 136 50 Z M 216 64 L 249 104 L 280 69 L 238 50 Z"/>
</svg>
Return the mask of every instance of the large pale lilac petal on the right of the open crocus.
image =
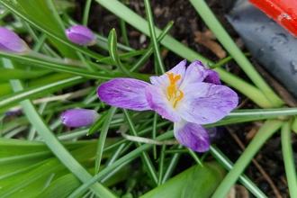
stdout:
<svg viewBox="0 0 297 198">
<path fill-rule="evenodd" d="M 238 105 L 238 94 L 225 85 L 195 83 L 184 89 L 177 112 L 185 121 L 207 124 L 219 121 Z"/>
</svg>

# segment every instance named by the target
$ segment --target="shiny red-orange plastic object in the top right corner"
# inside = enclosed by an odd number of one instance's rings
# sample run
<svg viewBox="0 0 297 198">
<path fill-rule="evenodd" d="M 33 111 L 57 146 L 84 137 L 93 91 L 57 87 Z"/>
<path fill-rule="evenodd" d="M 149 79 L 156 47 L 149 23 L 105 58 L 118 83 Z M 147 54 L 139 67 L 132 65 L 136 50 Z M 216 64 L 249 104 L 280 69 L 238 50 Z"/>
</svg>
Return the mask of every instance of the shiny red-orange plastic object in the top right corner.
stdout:
<svg viewBox="0 0 297 198">
<path fill-rule="evenodd" d="M 297 37 L 297 1 L 296 0 L 249 0 L 275 22 Z"/>
</svg>

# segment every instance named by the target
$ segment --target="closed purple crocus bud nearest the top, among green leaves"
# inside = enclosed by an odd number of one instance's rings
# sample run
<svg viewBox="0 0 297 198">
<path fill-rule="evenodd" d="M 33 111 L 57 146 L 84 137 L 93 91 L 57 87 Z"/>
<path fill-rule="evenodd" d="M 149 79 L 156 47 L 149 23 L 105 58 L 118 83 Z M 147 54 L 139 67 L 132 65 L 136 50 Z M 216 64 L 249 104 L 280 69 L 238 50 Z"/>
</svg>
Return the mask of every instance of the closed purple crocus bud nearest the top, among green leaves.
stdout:
<svg viewBox="0 0 297 198">
<path fill-rule="evenodd" d="M 96 43 L 94 33 L 84 25 L 72 26 L 65 31 L 65 34 L 68 40 L 71 40 L 78 45 L 91 46 Z"/>
</svg>

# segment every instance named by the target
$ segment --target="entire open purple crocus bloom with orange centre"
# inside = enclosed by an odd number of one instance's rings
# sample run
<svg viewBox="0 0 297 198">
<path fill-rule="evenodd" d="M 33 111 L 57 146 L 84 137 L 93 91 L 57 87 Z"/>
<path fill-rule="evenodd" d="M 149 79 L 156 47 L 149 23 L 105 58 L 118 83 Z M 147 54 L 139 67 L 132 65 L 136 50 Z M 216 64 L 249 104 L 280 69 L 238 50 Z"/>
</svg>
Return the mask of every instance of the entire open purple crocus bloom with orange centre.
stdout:
<svg viewBox="0 0 297 198">
<path fill-rule="evenodd" d="M 187 68 L 185 64 L 183 60 L 164 75 L 151 76 L 151 84 L 133 78 L 114 78 L 98 87 L 98 96 L 113 106 L 156 111 L 175 122 L 175 139 L 185 147 L 207 151 L 210 142 L 202 124 L 225 117 L 238 105 L 238 94 L 220 85 L 218 73 L 204 68 L 199 60 Z"/>
</svg>

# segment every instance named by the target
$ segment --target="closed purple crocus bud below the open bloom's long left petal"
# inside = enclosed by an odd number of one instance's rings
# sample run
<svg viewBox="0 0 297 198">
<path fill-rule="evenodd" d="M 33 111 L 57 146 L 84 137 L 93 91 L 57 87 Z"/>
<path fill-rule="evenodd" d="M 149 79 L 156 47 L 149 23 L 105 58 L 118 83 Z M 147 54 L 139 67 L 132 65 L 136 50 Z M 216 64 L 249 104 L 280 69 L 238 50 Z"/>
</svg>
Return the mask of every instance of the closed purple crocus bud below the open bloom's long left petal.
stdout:
<svg viewBox="0 0 297 198">
<path fill-rule="evenodd" d="M 100 115 L 89 109 L 71 109 L 63 112 L 61 120 L 68 127 L 89 126 L 99 119 Z"/>
</svg>

